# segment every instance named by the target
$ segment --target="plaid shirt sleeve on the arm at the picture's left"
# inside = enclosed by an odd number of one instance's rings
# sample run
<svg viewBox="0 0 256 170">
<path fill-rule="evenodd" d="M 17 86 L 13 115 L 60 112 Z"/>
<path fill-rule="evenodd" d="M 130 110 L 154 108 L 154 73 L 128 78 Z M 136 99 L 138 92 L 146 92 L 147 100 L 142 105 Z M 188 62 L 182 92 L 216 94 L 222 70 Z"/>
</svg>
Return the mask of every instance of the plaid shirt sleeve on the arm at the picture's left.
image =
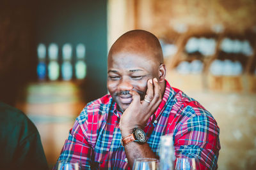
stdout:
<svg viewBox="0 0 256 170">
<path fill-rule="evenodd" d="M 97 114 L 95 115 L 97 116 Z M 97 138 L 97 136 L 94 135 L 96 131 L 92 131 L 94 126 L 92 127 L 92 124 L 88 123 L 88 117 L 91 118 L 88 116 L 86 106 L 76 118 L 73 128 L 70 129 L 58 161 L 80 162 L 83 169 L 93 169 L 92 138 Z M 56 167 L 54 168 L 56 169 Z"/>
</svg>

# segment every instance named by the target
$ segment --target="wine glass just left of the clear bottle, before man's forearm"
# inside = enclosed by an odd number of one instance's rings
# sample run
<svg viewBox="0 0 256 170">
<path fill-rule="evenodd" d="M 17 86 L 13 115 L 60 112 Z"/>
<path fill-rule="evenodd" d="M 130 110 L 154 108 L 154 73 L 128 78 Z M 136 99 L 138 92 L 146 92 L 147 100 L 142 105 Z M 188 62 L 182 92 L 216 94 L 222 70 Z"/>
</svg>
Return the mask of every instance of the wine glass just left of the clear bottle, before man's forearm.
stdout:
<svg viewBox="0 0 256 170">
<path fill-rule="evenodd" d="M 135 159 L 132 170 L 158 170 L 159 160 L 154 158 Z"/>
</svg>

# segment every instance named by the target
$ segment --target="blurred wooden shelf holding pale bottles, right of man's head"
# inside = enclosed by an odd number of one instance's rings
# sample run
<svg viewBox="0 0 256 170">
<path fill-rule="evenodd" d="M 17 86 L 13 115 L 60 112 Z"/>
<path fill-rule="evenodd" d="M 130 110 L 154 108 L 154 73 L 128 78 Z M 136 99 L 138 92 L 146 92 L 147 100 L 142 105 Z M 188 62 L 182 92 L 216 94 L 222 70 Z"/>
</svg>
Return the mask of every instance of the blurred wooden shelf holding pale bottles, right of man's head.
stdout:
<svg viewBox="0 0 256 170">
<path fill-rule="evenodd" d="M 172 37 L 169 35 L 169 37 Z M 204 56 L 202 53 L 187 53 L 185 50 L 189 38 L 213 38 L 216 41 L 214 55 Z M 221 50 L 221 41 L 224 38 L 239 39 L 240 41 L 248 40 L 250 45 L 256 51 L 256 43 L 252 41 L 255 34 L 251 37 L 248 34 L 230 34 L 223 32 L 215 34 L 211 31 L 188 31 L 175 39 L 177 53 L 173 57 L 164 59 L 167 74 L 166 79 L 170 81 L 173 87 L 189 91 L 218 91 L 218 92 L 256 92 L 256 54 L 246 56 L 243 53 L 225 53 Z M 195 59 L 201 60 L 204 64 L 204 71 L 201 74 L 179 74 L 176 67 L 182 61 L 191 62 Z M 243 73 L 237 76 L 214 76 L 210 73 L 209 68 L 214 60 L 231 60 L 239 61 L 243 66 Z"/>
</svg>

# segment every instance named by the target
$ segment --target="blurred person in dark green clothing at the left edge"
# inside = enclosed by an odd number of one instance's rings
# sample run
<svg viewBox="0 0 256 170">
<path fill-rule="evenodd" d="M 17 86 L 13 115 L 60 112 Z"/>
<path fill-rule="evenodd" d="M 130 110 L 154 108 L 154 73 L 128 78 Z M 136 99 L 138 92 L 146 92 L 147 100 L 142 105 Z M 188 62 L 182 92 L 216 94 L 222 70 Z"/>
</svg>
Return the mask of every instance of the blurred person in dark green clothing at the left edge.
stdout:
<svg viewBox="0 0 256 170">
<path fill-rule="evenodd" d="M 49 169 L 40 135 L 22 111 L 0 102 L 0 169 Z"/>
</svg>

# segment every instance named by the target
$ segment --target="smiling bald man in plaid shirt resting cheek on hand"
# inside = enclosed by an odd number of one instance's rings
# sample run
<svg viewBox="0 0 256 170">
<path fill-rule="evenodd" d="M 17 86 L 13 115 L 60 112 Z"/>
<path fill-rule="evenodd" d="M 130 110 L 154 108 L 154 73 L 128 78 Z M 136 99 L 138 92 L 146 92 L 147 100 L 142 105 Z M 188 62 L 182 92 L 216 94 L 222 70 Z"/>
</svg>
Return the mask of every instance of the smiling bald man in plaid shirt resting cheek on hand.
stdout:
<svg viewBox="0 0 256 170">
<path fill-rule="evenodd" d="M 79 161 L 85 169 L 130 169 L 136 158 L 157 158 L 160 137 L 170 134 L 177 156 L 198 157 L 202 169 L 216 169 L 216 121 L 170 87 L 165 74 L 156 36 L 135 30 L 118 38 L 108 55 L 109 94 L 86 105 L 59 160 Z"/>
</svg>

